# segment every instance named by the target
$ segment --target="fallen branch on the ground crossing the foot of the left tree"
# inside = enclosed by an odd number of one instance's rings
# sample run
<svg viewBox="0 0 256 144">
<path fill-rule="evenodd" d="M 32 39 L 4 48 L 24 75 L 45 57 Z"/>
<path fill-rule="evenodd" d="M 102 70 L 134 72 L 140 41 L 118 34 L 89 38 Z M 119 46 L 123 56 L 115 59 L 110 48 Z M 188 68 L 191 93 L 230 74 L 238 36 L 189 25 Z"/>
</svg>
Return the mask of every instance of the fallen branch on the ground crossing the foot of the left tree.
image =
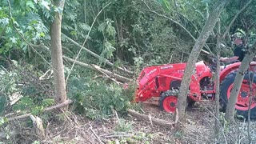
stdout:
<svg viewBox="0 0 256 144">
<path fill-rule="evenodd" d="M 60 103 L 58 105 L 46 107 L 46 109 L 43 110 L 43 111 L 55 110 L 55 109 L 61 108 L 63 106 L 67 106 L 67 105 L 71 104 L 72 102 L 73 102 L 72 100 L 66 100 L 66 102 L 62 102 L 62 103 Z M 30 115 L 31 115 L 31 113 L 19 115 L 19 116 L 14 117 L 14 118 L 7 118 L 7 121 L 10 122 L 10 121 L 14 121 L 14 120 L 22 119 L 22 118 L 27 118 Z"/>
</svg>

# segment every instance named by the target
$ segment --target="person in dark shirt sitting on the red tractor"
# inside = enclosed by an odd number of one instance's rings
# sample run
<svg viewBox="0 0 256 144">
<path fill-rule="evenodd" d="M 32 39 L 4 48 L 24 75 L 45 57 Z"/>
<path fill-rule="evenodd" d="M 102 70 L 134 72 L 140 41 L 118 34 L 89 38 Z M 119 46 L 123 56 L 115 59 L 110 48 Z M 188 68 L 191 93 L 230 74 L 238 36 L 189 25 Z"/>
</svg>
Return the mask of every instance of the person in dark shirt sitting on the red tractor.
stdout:
<svg viewBox="0 0 256 144">
<path fill-rule="evenodd" d="M 221 62 L 235 62 L 235 61 L 242 62 L 242 59 L 245 57 L 245 48 L 242 42 L 242 38 L 238 37 L 238 34 L 234 34 L 232 36 L 232 41 L 234 42 L 234 45 L 235 45 L 234 56 L 231 58 L 227 58 L 227 57 L 220 58 Z"/>
</svg>

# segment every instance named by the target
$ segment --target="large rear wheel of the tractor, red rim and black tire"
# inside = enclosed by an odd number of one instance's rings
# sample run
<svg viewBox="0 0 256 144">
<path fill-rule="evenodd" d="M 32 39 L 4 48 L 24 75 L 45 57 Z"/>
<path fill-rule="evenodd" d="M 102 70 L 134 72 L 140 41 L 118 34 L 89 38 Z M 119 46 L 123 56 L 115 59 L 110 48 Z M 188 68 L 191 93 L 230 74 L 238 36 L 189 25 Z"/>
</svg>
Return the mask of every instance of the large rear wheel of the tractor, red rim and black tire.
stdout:
<svg viewBox="0 0 256 144">
<path fill-rule="evenodd" d="M 242 81 L 242 86 L 238 94 L 238 100 L 235 104 L 235 110 L 237 110 L 237 115 L 241 115 L 244 118 L 248 118 L 248 110 L 249 110 L 249 101 L 250 101 L 250 79 L 249 75 L 252 74 L 245 74 L 244 79 Z M 222 106 L 222 110 L 226 110 L 228 99 L 230 98 L 231 90 L 234 86 L 234 78 L 236 76 L 236 73 L 231 73 L 223 80 L 221 86 L 220 86 L 220 104 Z M 254 74 L 253 78 L 253 84 L 252 84 L 252 94 L 251 96 L 251 106 L 250 106 L 250 118 L 256 118 L 256 74 Z"/>
</svg>

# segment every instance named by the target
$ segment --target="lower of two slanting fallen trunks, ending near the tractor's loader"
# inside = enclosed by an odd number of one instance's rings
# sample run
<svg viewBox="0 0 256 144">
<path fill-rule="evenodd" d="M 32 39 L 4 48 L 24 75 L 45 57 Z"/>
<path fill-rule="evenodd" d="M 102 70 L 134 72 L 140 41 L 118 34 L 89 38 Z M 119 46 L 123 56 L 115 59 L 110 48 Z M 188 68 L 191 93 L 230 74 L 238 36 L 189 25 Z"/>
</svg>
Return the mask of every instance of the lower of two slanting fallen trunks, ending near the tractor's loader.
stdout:
<svg viewBox="0 0 256 144">
<path fill-rule="evenodd" d="M 72 58 L 68 58 L 66 56 L 63 56 L 63 58 L 65 58 L 69 62 L 75 62 L 74 59 L 72 59 Z M 130 82 L 130 78 L 123 77 L 119 74 L 114 74 L 114 73 L 110 72 L 109 70 L 102 69 L 100 66 L 97 66 L 97 65 L 94 65 L 94 64 L 89 65 L 87 63 L 79 62 L 79 61 L 76 61 L 75 64 L 78 64 L 79 66 L 89 68 L 91 70 L 98 70 L 103 74 L 107 74 L 110 77 L 112 76 L 112 77 L 116 78 L 119 82 Z"/>
</svg>

